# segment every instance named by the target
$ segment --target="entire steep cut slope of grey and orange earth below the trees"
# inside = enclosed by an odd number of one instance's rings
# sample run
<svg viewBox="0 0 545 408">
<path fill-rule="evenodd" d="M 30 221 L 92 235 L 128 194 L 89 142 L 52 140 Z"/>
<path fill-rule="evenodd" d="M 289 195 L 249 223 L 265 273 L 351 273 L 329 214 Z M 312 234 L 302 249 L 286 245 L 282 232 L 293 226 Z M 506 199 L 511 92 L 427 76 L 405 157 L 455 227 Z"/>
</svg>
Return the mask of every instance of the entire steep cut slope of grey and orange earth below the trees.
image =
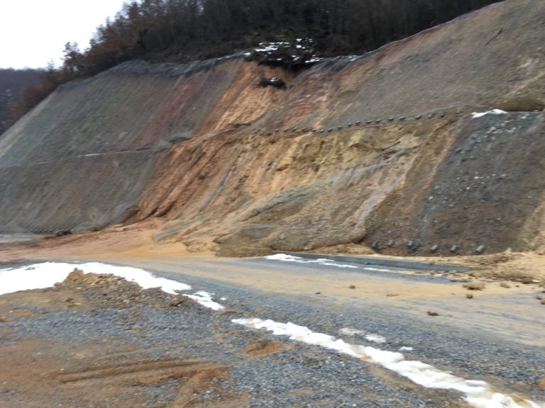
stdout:
<svg viewBox="0 0 545 408">
<path fill-rule="evenodd" d="M 0 227 L 159 218 L 157 242 L 230 256 L 542 251 L 544 17 L 508 0 L 298 75 L 239 56 L 69 84 L 0 140 Z M 489 108 L 509 113 L 472 118 Z"/>
</svg>

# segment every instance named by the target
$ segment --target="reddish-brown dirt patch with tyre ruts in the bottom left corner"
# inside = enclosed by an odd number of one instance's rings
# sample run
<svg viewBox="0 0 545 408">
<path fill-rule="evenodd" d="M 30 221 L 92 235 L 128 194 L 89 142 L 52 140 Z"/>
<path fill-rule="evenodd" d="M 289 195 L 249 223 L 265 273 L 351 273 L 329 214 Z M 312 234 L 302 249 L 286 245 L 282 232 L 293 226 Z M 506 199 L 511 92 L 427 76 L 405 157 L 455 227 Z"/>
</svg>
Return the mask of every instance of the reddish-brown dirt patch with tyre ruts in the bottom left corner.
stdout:
<svg viewBox="0 0 545 408">
<path fill-rule="evenodd" d="M 148 351 L 132 344 L 57 343 L 51 339 L 24 340 L 0 346 L 0 384 L 3 390 L 21 395 L 18 406 L 52 407 L 56 399 L 72 400 L 64 407 L 141 407 L 134 390 L 141 385 L 160 385 L 165 380 L 180 382 L 179 396 L 163 407 L 200 407 L 191 401 L 195 392 L 206 390 L 213 378 L 226 378 L 228 367 L 207 361 L 155 361 Z M 118 399 L 112 404 L 113 399 Z M 244 403 L 243 397 L 226 396 L 225 402 Z M 207 406 L 223 405 L 223 402 Z M 0 407 L 8 407 L 2 405 Z"/>
</svg>

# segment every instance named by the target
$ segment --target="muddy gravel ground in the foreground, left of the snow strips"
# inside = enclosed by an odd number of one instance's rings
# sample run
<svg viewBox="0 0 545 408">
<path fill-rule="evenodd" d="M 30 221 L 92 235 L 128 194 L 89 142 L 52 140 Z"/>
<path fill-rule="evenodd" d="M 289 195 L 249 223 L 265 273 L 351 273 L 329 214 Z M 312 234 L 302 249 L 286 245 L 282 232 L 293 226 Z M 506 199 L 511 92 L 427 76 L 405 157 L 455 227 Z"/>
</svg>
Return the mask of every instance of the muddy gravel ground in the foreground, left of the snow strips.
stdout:
<svg viewBox="0 0 545 408">
<path fill-rule="evenodd" d="M 425 390 L 392 398 L 379 368 L 369 385 L 357 361 L 237 330 L 236 315 L 79 270 L 2 295 L 0 407 L 465 406 Z"/>
</svg>

